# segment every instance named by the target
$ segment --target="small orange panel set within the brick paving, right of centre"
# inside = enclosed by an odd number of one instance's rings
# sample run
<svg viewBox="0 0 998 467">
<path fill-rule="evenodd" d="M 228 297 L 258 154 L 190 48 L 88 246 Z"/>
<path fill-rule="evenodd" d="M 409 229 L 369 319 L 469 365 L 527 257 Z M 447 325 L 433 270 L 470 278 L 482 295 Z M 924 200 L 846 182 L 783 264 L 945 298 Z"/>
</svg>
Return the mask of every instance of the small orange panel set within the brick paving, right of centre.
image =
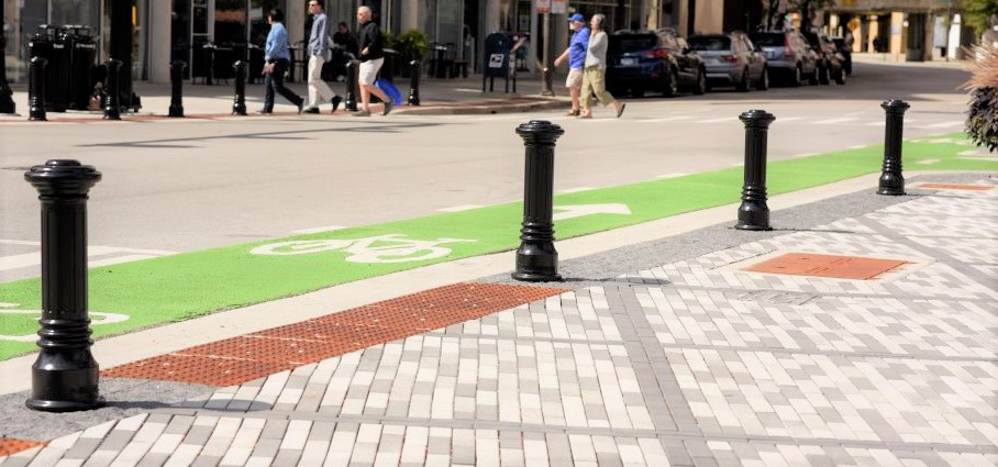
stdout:
<svg viewBox="0 0 998 467">
<path fill-rule="evenodd" d="M 860 256 L 788 253 L 743 268 L 751 273 L 787 274 L 792 276 L 834 277 L 839 279 L 874 279 L 908 262 L 864 258 Z"/>
</svg>

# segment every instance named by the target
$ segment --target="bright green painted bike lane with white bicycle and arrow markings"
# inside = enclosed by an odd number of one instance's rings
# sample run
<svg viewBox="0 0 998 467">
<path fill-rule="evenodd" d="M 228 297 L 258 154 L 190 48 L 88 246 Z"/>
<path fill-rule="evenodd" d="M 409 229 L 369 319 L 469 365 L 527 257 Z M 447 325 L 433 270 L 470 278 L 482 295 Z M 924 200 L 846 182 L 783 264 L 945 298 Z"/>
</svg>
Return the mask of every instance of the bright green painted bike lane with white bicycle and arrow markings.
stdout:
<svg viewBox="0 0 998 467">
<path fill-rule="evenodd" d="M 962 134 L 906 141 L 905 171 L 998 170 L 996 158 L 961 156 L 973 148 Z M 877 173 L 883 152 L 883 146 L 869 146 L 770 162 L 767 191 L 779 194 Z M 743 169 L 731 167 L 557 194 L 555 236 L 569 238 L 735 203 L 742 185 Z M 515 202 L 91 268 L 93 335 L 122 334 L 434 263 L 512 251 L 520 244 L 521 220 L 522 203 Z M 734 220 L 732 212 L 732 224 Z M 7 305 L 0 309 L 5 312 L 0 320 L 0 360 L 35 351 L 37 312 L 26 311 L 41 308 L 41 279 L 0 283 L 0 303 Z M 121 321 L 99 313 L 115 313 Z"/>
</svg>

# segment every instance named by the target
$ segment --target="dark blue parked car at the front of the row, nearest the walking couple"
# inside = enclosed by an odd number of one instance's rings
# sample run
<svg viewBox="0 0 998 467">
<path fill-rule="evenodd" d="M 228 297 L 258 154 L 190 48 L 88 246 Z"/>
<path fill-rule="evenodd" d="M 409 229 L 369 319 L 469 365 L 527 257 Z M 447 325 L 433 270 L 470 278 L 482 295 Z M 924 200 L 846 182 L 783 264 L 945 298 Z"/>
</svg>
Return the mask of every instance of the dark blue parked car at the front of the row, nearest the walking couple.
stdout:
<svg viewBox="0 0 998 467">
<path fill-rule="evenodd" d="M 641 97 L 647 90 L 674 97 L 680 91 L 707 92 L 702 59 L 689 53 L 683 37 L 672 30 L 618 31 L 607 52 L 607 89 Z"/>
</svg>

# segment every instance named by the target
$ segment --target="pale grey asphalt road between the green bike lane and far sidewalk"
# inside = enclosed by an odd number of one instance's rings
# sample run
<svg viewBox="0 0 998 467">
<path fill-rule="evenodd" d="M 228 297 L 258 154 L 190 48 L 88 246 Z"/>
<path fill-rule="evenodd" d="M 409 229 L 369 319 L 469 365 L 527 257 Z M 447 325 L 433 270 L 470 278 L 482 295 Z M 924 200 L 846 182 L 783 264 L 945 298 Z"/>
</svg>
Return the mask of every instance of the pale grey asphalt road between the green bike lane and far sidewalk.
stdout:
<svg viewBox="0 0 998 467">
<path fill-rule="evenodd" d="M 0 124 L 0 280 L 37 275 L 24 267 L 40 229 L 23 173 L 51 158 L 103 174 L 88 205 L 91 249 L 141 257 L 519 200 L 524 151 L 514 129 L 534 119 L 565 130 L 556 191 L 736 165 L 738 115 L 750 109 L 777 118 L 770 159 L 881 144 L 885 99 L 911 104 L 906 137 L 963 130 L 957 87 L 968 74 L 958 67 L 857 63 L 855 71 L 845 86 L 624 99 L 620 120 L 603 108 L 591 121 L 544 111 Z"/>
</svg>

